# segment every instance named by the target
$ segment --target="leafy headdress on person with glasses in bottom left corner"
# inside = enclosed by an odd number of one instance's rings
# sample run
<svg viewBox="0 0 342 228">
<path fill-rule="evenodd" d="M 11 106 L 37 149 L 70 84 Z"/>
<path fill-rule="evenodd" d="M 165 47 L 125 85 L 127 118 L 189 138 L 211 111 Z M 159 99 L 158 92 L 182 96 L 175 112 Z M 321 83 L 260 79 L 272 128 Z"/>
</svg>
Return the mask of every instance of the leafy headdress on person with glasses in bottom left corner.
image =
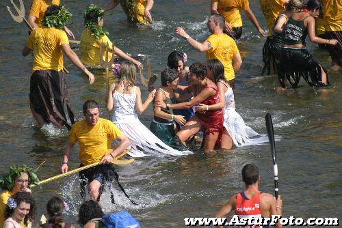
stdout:
<svg viewBox="0 0 342 228">
<path fill-rule="evenodd" d="M 8 173 L 5 173 L 5 175 L 1 177 L 1 189 L 12 191 L 16 178 L 21 176 L 23 173 L 27 173 L 29 175 L 29 184 L 39 184 L 39 179 L 36 175 L 36 169 L 32 169 L 26 165 L 22 165 L 20 167 L 14 165 L 13 167 L 10 167 L 10 171 Z"/>
</svg>

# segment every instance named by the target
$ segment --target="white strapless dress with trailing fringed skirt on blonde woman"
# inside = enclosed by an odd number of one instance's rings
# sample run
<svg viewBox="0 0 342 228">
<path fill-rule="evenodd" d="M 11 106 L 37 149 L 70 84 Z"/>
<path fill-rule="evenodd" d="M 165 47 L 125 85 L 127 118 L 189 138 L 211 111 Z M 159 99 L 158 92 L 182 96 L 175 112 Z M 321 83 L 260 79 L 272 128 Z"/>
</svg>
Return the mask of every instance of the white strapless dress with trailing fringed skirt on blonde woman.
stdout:
<svg viewBox="0 0 342 228">
<path fill-rule="evenodd" d="M 131 151 L 128 153 L 133 157 L 148 156 L 144 154 L 170 154 L 173 156 L 181 156 L 189 154 L 189 151 L 179 151 L 163 143 L 155 136 L 137 117 L 135 109 L 136 87 L 133 88 L 132 94 L 121 94 L 114 91 L 114 114 L 112 121 L 120 130 L 126 134 L 131 140 Z"/>
</svg>

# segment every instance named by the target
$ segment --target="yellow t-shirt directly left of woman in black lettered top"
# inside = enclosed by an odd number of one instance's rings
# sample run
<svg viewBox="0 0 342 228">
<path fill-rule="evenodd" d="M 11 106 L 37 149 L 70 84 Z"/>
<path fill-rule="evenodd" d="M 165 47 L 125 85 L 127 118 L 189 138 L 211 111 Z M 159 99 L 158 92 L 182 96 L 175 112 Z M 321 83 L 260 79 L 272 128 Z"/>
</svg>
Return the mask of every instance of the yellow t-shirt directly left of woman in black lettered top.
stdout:
<svg viewBox="0 0 342 228">
<path fill-rule="evenodd" d="M 274 23 L 276 23 L 276 18 L 279 14 L 285 11 L 285 1 L 284 0 L 260 0 L 261 11 L 268 27 L 268 35 L 272 35 Z"/>
</svg>

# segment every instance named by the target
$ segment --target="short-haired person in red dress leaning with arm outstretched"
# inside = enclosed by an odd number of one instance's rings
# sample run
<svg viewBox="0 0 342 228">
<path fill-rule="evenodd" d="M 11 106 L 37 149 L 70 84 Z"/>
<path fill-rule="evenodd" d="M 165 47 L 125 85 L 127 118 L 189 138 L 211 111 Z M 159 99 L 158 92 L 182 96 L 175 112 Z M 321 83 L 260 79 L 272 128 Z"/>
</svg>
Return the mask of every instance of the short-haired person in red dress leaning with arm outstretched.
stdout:
<svg viewBox="0 0 342 228">
<path fill-rule="evenodd" d="M 219 102 L 218 87 L 206 76 L 206 67 L 203 63 L 194 63 L 189 68 L 190 79 L 192 84 L 183 91 L 192 91 L 195 94 L 194 99 L 179 104 L 167 104 L 162 100 L 157 100 L 155 106 L 163 109 L 189 109 L 195 104 L 217 104 Z M 180 87 L 181 88 L 181 87 Z M 185 145 L 185 141 L 194 134 L 203 130 L 203 150 L 205 153 L 212 152 L 217 141 L 220 141 L 219 136 L 223 126 L 222 109 L 206 110 L 204 112 L 196 112 L 182 128 L 177 132 L 177 136 Z M 218 140 L 219 139 L 219 140 Z"/>
</svg>

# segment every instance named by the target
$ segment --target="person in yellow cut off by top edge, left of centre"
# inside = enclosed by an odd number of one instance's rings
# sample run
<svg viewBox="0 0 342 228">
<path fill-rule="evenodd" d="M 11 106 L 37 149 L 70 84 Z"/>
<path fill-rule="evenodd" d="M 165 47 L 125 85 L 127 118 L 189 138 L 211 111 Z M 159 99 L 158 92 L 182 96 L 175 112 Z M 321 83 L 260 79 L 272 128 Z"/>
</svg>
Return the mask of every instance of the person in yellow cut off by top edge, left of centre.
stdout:
<svg viewBox="0 0 342 228">
<path fill-rule="evenodd" d="M 133 24 L 148 25 L 152 23 L 150 10 L 153 8 L 153 0 L 110 0 L 111 2 L 105 6 L 105 11 L 112 10 L 120 3 L 122 10 L 127 15 L 127 19 Z M 144 5 L 146 3 L 146 6 Z M 129 8 L 131 4 L 135 4 L 135 8 Z"/>
</svg>

